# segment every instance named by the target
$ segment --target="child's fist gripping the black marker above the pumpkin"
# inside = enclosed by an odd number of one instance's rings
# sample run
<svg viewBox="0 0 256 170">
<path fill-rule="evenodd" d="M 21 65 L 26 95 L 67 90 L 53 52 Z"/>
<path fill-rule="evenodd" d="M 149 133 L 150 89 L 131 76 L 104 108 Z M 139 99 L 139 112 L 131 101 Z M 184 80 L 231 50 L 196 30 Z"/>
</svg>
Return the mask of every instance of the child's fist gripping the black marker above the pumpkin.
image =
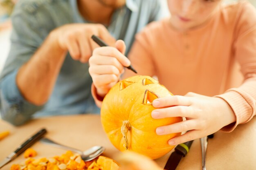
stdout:
<svg viewBox="0 0 256 170">
<path fill-rule="evenodd" d="M 94 49 L 89 59 L 89 73 L 97 93 L 104 97 L 124 72 L 124 66 L 130 66 L 130 60 L 124 56 L 126 46 L 118 40 L 116 48 L 104 46 Z"/>
</svg>

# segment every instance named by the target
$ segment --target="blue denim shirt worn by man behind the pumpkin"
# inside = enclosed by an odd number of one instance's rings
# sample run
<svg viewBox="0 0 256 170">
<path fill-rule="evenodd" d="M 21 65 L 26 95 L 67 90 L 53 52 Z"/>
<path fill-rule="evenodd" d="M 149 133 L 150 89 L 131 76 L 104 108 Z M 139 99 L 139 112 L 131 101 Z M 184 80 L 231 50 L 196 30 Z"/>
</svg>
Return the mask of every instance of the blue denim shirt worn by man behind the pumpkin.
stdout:
<svg viewBox="0 0 256 170">
<path fill-rule="evenodd" d="M 168 15 L 159 0 L 126 0 L 112 15 L 108 31 L 125 41 L 130 50 L 135 34 L 151 21 Z M 2 119 L 20 125 L 33 117 L 99 113 L 90 87 L 88 64 L 73 60 L 69 54 L 58 75 L 52 95 L 44 106 L 27 102 L 16 85 L 16 75 L 53 29 L 70 23 L 90 23 L 81 17 L 76 0 L 20 0 L 12 24 L 11 49 L 0 77 Z M 28 82 L 29 83 L 29 82 Z"/>
</svg>

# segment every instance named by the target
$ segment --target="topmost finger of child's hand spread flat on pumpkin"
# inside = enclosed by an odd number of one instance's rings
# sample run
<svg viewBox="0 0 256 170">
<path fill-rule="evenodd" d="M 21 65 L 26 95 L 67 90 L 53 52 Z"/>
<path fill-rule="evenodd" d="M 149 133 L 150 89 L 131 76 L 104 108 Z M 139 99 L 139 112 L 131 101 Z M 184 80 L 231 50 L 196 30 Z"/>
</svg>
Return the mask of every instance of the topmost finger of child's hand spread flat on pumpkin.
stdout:
<svg viewBox="0 0 256 170">
<path fill-rule="evenodd" d="M 184 96 L 170 96 L 170 97 L 162 97 L 159 99 L 155 99 L 153 101 L 153 106 L 155 108 L 166 107 L 166 106 L 190 106 L 192 104 L 190 97 Z"/>
</svg>

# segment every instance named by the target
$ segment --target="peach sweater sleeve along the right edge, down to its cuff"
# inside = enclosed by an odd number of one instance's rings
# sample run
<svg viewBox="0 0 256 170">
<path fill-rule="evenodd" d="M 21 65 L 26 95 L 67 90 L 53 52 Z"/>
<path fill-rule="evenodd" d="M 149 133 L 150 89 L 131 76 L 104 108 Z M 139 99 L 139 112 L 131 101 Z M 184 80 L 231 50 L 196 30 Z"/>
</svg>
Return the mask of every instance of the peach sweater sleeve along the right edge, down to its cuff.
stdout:
<svg viewBox="0 0 256 170">
<path fill-rule="evenodd" d="M 256 113 L 256 9 L 251 4 L 241 4 L 235 28 L 234 54 L 245 80 L 238 88 L 216 96 L 224 99 L 236 115 L 236 122 L 222 128 L 225 132 L 250 121 Z"/>
</svg>

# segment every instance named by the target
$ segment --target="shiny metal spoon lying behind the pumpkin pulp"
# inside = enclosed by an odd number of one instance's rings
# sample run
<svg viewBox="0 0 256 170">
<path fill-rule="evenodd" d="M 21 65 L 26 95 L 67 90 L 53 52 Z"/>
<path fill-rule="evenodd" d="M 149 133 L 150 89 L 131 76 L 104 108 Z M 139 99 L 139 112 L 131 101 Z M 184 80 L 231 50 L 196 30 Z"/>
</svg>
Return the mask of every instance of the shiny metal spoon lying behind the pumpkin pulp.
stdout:
<svg viewBox="0 0 256 170">
<path fill-rule="evenodd" d="M 54 142 L 50 139 L 47 139 L 47 138 L 40 139 L 40 142 L 42 142 L 43 144 L 49 144 L 49 145 L 55 146 L 57 148 L 63 148 L 63 149 L 66 149 L 66 150 L 71 150 L 73 152 L 76 152 L 79 155 L 81 155 L 81 158 L 84 161 L 91 161 L 92 159 L 101 155 L 105 150 L 105 148 L 102 147 L 102 146 L 93 146 L 92 148 L 89 148 L 88 150 L 81 151 L 81 150 L 77 150 L 77 149 L 74 149 L 74 148 L 70 148 L 68 146 L 58 144 L 58 143 L 56 143 L 56 142 Z"/>
</svg>

